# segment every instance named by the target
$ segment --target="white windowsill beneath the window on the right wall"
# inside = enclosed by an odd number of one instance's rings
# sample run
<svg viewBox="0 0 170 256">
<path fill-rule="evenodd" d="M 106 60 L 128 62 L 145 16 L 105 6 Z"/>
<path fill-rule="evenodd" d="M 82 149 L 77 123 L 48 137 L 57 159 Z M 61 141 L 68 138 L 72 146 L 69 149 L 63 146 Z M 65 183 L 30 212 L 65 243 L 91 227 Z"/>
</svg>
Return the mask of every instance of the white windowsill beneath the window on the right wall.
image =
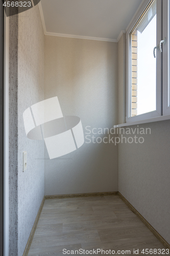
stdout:
<svg viewBox="0 0 170 256">
<path fill-rule="evenodd" d="M 128 123 L 120 123 L 117 125 L 114 125 L 114 128 L 117 127 L 124 127 L 124 126 L 130 126 L 130 125 L 135 125 L 135 124 L 142 124 L 142 123 L 152 123 L 152 122 L 158 122 L 158 121 L 164 121 L 164 120 L 169 120 L 170 115 L 165 115 L 165 116 L 157 116 L 153 118 L 148 118 L 140 121 L 134 121 L 134 122 L 128 122 Z"/>
</svg>

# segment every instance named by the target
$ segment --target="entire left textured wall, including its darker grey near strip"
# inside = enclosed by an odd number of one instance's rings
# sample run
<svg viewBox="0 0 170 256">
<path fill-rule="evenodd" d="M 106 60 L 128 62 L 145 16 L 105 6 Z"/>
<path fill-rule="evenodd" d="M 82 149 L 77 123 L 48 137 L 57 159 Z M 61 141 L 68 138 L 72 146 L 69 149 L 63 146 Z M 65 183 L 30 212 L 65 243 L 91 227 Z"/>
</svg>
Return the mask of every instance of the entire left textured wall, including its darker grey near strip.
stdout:
<svg viewBox="0 0 170 256">
<path fill-rule="evenodd" d="M 18 18 L 18 27 L 14 18 Z M 22 256 L 44 196 L 44 142 L 27 138 L 22 117 L 29 106 L 44 99 L 44 33 L 38 6 L 11 17 L 10 26 L 11 30 L 12 26 L 18 29 L 18 38 L 10 33 L 11 44 L 13 42 L 10 59 L 15 57 L 15 70 L 11 67 L 10 71 L 10 77 L 14 73 L 10 87 L 10 118 L 15 128 L 15 134 L 12 129 L 10 134 L 13 143 L 10 148 L 14 154 L 10 160 L 10 166 L 14 166 L 13 170 L 10 167 L 11 207 L 14 205 L 11 209 L 10 255 Z M 18 48 L 14 39 L 18 40 Z M 27 151 L 24 173 L 23 151 Z"/>
</svg>

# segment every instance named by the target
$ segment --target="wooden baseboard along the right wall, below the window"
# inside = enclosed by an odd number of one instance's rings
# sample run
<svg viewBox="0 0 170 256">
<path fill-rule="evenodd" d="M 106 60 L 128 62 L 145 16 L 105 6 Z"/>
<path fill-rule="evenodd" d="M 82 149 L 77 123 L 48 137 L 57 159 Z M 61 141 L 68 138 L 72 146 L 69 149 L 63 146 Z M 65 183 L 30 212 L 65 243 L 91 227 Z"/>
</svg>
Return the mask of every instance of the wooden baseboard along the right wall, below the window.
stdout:
<svg viewBox="0 0 170 256">
<path fill-rule="evenodd" d="M 151 224 L 145 220 L 141 214 L 139 214 L 139 212 L 128 202 L 128 200 L 126 200 L 126 198 L 120 194 L 119 192 L 117 193 L 117 195 L 119 196 L 119 198 L 121 198 L 124 203 L 126 203 L 126 205 L 134 212 L 134 214 L 144 223 L 145 226 L 148 227 L 148 229 L 154 234 L 154 236 L 161 242 L 161 244 L 166 248 L 166 249 L 170 249 L 170 245 L 161 237 L 161 235 L 155 230 L 155 228 L 153 228 L 153 226 L 151 226 Z"/>
</svg>

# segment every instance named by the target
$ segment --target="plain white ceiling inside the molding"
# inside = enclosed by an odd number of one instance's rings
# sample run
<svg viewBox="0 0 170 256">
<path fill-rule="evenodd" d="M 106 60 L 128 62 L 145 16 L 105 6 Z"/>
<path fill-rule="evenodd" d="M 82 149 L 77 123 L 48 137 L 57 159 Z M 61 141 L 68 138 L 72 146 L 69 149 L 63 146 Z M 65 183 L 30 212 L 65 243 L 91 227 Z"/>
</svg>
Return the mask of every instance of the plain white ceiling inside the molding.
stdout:
<svg viewBox="0 0 170 256">
<path fill-rule="evenodd" d="M 116 40 L 142 0 L 41 0 L 45 33 Z M 41 9 L 40 7 L 40 9 Z M 43 13 L 43 17 L 42 17 Z"/>
</svg>

